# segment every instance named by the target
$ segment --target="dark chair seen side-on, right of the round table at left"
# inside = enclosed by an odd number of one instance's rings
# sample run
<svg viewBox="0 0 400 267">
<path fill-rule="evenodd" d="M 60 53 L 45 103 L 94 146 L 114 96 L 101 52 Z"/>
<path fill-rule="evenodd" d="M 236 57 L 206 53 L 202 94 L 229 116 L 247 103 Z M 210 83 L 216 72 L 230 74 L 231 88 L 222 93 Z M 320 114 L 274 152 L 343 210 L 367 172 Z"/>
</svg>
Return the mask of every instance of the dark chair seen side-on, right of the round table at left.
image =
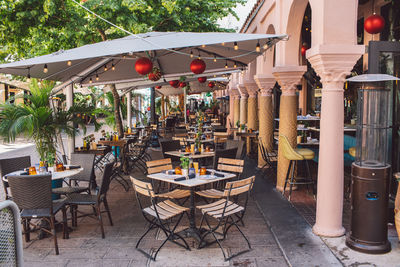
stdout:
<svg viewBox="0 0 400 267">
<path fill-rule="evenodd" d="M 107 202 L 107 192 L 110 187 L 113 165 L 114 165 L 114 163 L 108 163 L 104 167 L 101 185 L 100 185 L 100 188 L 98 190 L 96 190 L 96 194 L 92 195 L 92 194 L 73 193 L 73 194 L 67 195 L 67 199 L 66 199 L 66 204 L 70 206 L 70 211 L 72 214 L 72 226 L 74 226 L 74 227 L 76 227 L 78 224 L 78 209 L 77 209 L 78 206 L 84 205 L 84 206 L 92 206 L 93 207 L 93 213 L 82 214 L 79 217 L 83 217 L 83 216 L 97 217 L 99 224 L 100 224 L 100 228 L 101 228 L 102 238 L 105 238 L 103 219 L 101 216 L 101 214 L 103 212 L 107 212 L 110 224 L 113 225 L 113 222 L 111 219 L 110 208 L 109 208 L 108 202 Z M 101 211 L 102 203 L 104 205 L 105 211 Z"/>
</svg>

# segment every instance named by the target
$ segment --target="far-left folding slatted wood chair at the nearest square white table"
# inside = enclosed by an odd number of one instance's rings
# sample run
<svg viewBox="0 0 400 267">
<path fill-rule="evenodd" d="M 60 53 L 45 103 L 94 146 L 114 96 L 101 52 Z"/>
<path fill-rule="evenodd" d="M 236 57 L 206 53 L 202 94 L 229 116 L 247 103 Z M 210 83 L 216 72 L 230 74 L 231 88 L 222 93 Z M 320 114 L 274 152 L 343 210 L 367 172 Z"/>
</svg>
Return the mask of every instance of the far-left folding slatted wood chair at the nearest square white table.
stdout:
<svg viewBox="0 0 400 267">
<path fill-rule="evenodd" d="M 148 174 L 173 170 L 172 162 L 171 162 L 170 158 L 147 161 L 146 165 L 147 165 L 147 173 Z M 157 196 L 160 198 L 169 198 L 169 199 L 181 199 L 181 198 L 187 199 L 190 196 L 190 190 L 184 190 L 184 189 L 177 188 L 172 191 L 158 194 Z"/>
</svg>

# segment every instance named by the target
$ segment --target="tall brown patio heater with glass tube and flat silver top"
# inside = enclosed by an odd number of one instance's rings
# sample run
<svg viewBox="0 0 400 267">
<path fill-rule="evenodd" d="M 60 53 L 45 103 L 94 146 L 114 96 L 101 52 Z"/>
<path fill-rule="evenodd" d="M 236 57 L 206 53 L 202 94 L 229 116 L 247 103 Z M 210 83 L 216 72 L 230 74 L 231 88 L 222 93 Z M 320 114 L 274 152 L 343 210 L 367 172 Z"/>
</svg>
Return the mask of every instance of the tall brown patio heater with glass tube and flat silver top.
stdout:
<svg viewBox="0 0 400 267">
<path fill-rule="evenodd" d="M 396 77 L 365 74 L 348 79 L 360 83 L 357 103 L 356 157 L 351 168 L 351 225 L 346 245 L 382 254 L 391 250 L 387 238 L 390 83 Z"/>
</svg>

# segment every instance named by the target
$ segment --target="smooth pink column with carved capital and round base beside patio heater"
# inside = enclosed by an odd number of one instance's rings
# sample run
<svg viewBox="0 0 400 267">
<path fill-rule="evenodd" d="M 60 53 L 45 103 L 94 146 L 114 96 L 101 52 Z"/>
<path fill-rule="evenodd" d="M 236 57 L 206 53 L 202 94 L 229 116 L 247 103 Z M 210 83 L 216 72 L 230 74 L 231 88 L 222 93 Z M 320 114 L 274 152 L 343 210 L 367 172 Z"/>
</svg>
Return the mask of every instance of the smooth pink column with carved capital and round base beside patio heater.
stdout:
<svg viewBox="0 0 400 267">
<path fill-rule="evenodd" d="M 313 232 L 336 237 L 345 233 L 343 213 L 343 85 L 363 46 L 316 46 L 307 58 L 321 77 L 322 103 L 318 163 L 317 214 Z"/>
</svg>

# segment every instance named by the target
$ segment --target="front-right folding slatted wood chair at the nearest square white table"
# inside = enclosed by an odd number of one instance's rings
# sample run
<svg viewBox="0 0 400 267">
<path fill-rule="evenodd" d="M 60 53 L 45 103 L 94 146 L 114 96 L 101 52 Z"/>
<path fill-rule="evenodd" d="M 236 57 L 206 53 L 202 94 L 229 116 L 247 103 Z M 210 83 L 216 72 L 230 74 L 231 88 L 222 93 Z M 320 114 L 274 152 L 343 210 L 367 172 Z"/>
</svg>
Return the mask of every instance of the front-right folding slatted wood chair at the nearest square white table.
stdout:
<svg viewBox="0 0 400 267">
<path fill-rule="evenodd" d="M 205 247 L 205 242 L 204 239 L 208 235 L 212 235 L 215 239 L 214 242 L 211 243 L 206 243 L 206 245 L 210 245 L 213 243 L 218 243 L 218 246 L 221 248 L 222 253 L 224 255 L 225 261 L 228 261 L 232 259 L 233 257 L 236 257 L 240 254 L 243 254 L 245 252 L 248 252 L 251 250 L 251 245 L 247 237 L 244 235 L 242 230 L 238 226 L 238 222 L 243 220 L 244 214 L 246 212 L 247 208 L 247 203 L 249 200 L 250 196 L 250 191 L 253 188 L 255 181 L 255 176 L 249 177 L 247 179 L 243 179 L 240 181 L 235 181 L 235 182 L 228 182 L 226 183 L 225 190 L 223 192 L 223 198 L 221 200 L 218 200 L 216 202 L 206 204 L 206 205 L 201 205 L 197 206 L 196 208 L 201 211 L 203 214 L 200 222 L 200 228 L 205 221 L 208 230 L 202 235 L 201 240 L 199 242 L 199 248 Z M 241 194 L 246 194 L 245 202 L 241 206 L 239 204 L 236 204 L 235 202 L 231 201 L 230 199 L 237 198 L 237 196 Z M 214 220 L 216 220 L 218 223 L 214 226 L 210 225 L 210 222 L 207 217 L 211 217 Z M 223 232 L 222 232 L 222 239 L 218 239 L 216 234 L 219 234 L 217 232 L 217 229 L 222 226 L 223 227 Z M 221 241 L 223 241 L 226 238 L 226 234 L 229 231 L 229 229 L 235 226 L 239 232 L 242 234 L 243 238 L 246 240 L 248 249 L 242 250 L 236 254 L 231 255 L 230 257 L 227 257 L 224 251 L 224 248 L 221 244 Z"/>
</svg>

